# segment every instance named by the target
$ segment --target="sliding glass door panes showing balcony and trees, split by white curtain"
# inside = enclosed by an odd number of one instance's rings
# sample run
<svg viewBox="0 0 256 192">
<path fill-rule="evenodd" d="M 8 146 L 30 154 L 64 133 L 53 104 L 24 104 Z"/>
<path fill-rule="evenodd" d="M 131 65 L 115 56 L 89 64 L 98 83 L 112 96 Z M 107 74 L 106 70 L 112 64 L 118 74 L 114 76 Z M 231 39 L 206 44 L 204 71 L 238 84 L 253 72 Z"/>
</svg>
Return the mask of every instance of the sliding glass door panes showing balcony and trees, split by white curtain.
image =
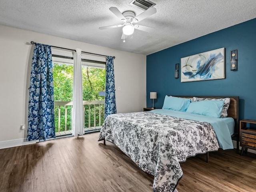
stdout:
<svg viewBox="0 0 256 192">
<path fill-rule="evenodd" d="M 100 130 L 104 121 L 105 62 L 82 59 L 84 130 Z M 72 134 L 73 58 L 53 56 L 56 136 Z"/>
</svg>

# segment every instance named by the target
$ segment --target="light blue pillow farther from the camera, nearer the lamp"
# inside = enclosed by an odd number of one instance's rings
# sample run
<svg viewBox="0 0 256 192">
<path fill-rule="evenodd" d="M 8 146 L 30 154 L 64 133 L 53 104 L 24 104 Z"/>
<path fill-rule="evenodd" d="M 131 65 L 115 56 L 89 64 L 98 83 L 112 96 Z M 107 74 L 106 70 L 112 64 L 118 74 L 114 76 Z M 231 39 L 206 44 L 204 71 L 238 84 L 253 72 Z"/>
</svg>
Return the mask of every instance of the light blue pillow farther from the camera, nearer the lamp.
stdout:
<svg viewBox="0 0 256 192">
<path fill-rule="evenodd" d="M 190 104 L 190 99 L 165 96 L 163 109 L 185 112 Z"/>
</svg>

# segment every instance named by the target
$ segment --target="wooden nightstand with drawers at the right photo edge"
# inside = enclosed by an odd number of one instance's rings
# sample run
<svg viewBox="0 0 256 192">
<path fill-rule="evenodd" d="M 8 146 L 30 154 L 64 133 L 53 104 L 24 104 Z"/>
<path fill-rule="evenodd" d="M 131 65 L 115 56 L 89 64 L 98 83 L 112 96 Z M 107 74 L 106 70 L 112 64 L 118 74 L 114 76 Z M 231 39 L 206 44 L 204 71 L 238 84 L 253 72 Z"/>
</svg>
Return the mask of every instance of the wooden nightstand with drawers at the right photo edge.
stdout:
<svg viewBox="0 0 256 192">
<path fill-rule="evenodd" d="M 247 127 L 247 124 L 256 124 L 256 120 L 240 120 L 240 146 L 242 147 L 240 155 L 247 152 L 247 149 L 256 150 L 256 128 Z"/>
</svg>

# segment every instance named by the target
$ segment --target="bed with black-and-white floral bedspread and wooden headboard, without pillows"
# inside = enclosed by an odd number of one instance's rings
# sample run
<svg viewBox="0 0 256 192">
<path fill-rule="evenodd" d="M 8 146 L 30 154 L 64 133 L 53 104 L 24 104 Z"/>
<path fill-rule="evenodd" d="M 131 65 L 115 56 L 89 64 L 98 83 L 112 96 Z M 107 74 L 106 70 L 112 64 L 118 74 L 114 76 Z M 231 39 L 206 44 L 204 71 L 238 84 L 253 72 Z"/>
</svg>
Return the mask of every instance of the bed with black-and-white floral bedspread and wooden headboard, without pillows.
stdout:
<svg viewBox="0 0 256 192">
<path fill-rule="evenodd" d="M 143 171 L 153 175 L 154 192 L 174 192 L 183 175 L 180 162 L 196 154 L 233 148 L 231 138 L 238 138 L 239 98 L 228 98 L 227 118 L 166 109 L 109 115 L 100 130 L 99 141 L 116 144 Z"/>
</svg>

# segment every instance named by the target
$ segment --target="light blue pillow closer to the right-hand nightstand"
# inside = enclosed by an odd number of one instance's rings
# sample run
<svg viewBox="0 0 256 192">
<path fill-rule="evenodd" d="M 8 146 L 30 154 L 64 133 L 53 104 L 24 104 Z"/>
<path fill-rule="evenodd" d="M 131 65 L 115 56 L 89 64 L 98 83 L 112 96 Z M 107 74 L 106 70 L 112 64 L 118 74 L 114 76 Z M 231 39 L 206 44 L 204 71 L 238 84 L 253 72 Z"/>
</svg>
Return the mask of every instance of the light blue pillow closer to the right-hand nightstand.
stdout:
<svg viewBox="0 0 256 192">
<path fill-rule="evenodd" d="M 204 100 L 191 102 L 186 112 L 210 117 L 220 117 L 224 100 Z"/>
</svg>

